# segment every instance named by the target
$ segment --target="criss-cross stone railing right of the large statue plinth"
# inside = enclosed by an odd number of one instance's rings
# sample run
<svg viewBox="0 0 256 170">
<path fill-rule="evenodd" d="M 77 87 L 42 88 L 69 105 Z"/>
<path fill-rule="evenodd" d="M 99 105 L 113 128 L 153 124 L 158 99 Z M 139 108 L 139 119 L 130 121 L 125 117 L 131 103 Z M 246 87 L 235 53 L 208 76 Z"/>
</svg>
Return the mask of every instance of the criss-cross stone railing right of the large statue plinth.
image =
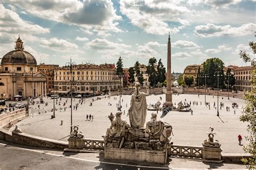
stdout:
<svg viewBox="0 0 256 170">
<path fill-rule="evenodd" d="M 203 147 L 199 146 L 171 145 L 171 148 L 169 148 L 167 152 L 168 156 L 179 155 L 183 157 L 203 157 Z"/>
</svg>

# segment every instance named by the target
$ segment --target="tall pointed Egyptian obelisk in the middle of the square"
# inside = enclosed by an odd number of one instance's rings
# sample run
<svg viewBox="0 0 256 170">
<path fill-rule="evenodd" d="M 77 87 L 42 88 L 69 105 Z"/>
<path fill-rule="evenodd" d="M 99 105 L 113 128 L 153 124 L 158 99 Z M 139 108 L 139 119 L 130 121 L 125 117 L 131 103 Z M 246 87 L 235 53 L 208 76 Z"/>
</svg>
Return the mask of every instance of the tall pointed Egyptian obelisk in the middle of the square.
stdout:
<svg viewBox="0 0 256 170">
<path fill-rule="evenodd" d="M 165 104 L 172 106 L 172 70 L 171 70 L 171 38 L 169 32 L 168 46 L 167 46 L 167 74 L 166 74 L 166 93 Z"/>
</svg>

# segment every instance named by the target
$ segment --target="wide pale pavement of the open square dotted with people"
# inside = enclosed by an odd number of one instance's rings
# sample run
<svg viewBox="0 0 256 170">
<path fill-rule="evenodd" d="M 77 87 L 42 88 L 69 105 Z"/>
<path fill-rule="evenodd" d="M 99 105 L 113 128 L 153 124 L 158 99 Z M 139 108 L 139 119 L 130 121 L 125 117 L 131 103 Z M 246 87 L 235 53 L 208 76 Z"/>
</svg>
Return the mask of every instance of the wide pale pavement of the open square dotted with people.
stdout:
<svg viewBox="0 0 256 170">
<path fill-rule="evenodd" d="M 104 97 L 104 96 L 100 96 Z M 117 100 L 114 100 L 114 97 L 117 97 Z M 125 115 L 122 118 L 126 119 L 129 122 L 129 117 L 126 116 L 128 109 L 130 107 L 130 95 L 123 95 L 121 101 L 122 110 L 125 112 Z M 163 98 L 162 102 L 165 101 L 165 95 L 150 95 L 147 96 L 147 104 L 156 103 L 159 101 L 160 97 Z M 173 95 L 173 103 L 178 104 L 178 102 L 190 101 L 198 102 L 198 105 L 192 104 L 193 115 L 191 112 L 178 112 L 171 111 L 163 120 L 167 123 L 170 123 L 173 127 L 172 137 L 174 145 L 188 145 L 188 146 L 201 146 L 201 143 L 207 139 L 206 132 L 209 127 L 213 127 L 215 133 L 215 140 L 219 140 L 221 143 L 221 148 L 223 153 L 244 153 L 242 146 L 238 145 L 238 134 L 245 139 L 244 136 L 247 135 L 246 132 L 246 123 L 239 121 L 239 116 L 241 115 L 242 105 L 244 100 L 241 98 L 230 97 L 230 100 L 227 100 L 227 97 L 219 97 L 219 102 L 224 102 L 224 108 L 219 110 L 219 117 L 217 116 L 217 110 L 213 108 L 213 103 L 217 104 L 217 96 L 206 96 L 206 101 L 210 102 L 211 107 L 209 110 L 204 105 L 204 95 L 188 95 L 181 94 L 179 96 Z M 94 97 L 96 98 L 96 97 Z M 46 113 L 38 115 L 38 104 L 33 105 L 32 114 L 33 117 L 25 119 L 22 122 L 19 122 L 20 128 L 25 133 L 33 134 L 36 136 L 41 136 L 45 138 L 51 138 L 56 140 L 67 141 L 68 135 L 70 133 L 70 98 L 68 98 L 68 103 L 66 106 L 68 109 L 66 111 L 59 112 L 59 108 L 63 108 L 63 103 L 66 101 L 66 98 L 62 98 L 60 101 L 60 106 L 57 104 L 56 108 L 56 118 L 51 119 L 52 112 L 49 112 L 53 108 L 53 100 L 50 98 L 44 98 L 48 102 L 48 107 L 45 107 L 44 104 L 39 104 L 40 111 L 45 111 Z M 78 103 L 79 99 L 76 98 L 74 103 Z M 81 105 L 79 104 L 77 110 L 72 110 L 72 121 L 73 124 L 80 125 L 79 130 L 85 134 L 85 138 L 93 139 L 102 139 L 102 135 L 105 133 L 107 127 L 110 126 L 108 115 L 110 112 L 113 114 L 117 111 L 117 103 L 119 101 L 119 96 L 111 96 L 111 98 L 103 98 L 102 100 L 97 100 L 92 102 L 92 98 L 87 98 L 86 101 Z M 92 102 L 92 106 L 89 104 Z M 112 104 L 109 106 L 109 102 Z M 202 103 L 200 105 L 200 102 Z M 239 108 L 232 109 L 232 102 L 239 104 Z M 126 107 L 127 103 L 127 107 Z M 230 111 L 226 111 L 226 106 L 230 107 Z M 73 109 L 73 108 L 72 108 Z M 152 111 L 147 111 L 147 119 L 150 119 Z M 86 121 L 86 114 L 93 115 L 93 121 Z M 158 118 L 160 118 L 161 112 L 158 112 Z M 60 125 L 60 121 L 63 120 L 64 124 Z M 245 140 L 242 140 L 242 144 L 246 144 Z"/>
</svg>

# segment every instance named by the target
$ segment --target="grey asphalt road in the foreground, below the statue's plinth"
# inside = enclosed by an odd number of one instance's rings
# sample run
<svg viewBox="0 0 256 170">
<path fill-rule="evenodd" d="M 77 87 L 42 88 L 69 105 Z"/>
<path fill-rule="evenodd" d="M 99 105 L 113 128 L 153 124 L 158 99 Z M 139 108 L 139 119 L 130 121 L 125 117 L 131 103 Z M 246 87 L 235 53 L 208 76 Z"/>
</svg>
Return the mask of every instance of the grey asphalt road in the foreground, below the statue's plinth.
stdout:
<svg viewBox="0 0 256 170">
<path fill-rule="evenodd" d="M 167 165 L 104 160 L 102 153 L 65 153 L 59 150 L 6 143 L 0 140 L 0 169 L 245 169 L 241 164 L 213 164 L 169 158 Z"/>
</svg>

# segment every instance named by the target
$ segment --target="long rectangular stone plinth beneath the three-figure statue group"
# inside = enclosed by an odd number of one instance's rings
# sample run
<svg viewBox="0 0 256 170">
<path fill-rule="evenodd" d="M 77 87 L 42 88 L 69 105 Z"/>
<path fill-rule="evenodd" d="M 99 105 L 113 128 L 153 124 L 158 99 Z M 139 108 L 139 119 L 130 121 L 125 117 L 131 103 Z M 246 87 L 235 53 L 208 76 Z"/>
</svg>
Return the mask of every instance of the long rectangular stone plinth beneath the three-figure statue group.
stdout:
<svg viewBox="0 0 256 170">
<path fill-rule="evenodd" d="M 104 159 L 166 164 L 167 152 L 166 149 L 164 151 L 145 151 L 134 148 L 104 147 Z"/>
</svg>

